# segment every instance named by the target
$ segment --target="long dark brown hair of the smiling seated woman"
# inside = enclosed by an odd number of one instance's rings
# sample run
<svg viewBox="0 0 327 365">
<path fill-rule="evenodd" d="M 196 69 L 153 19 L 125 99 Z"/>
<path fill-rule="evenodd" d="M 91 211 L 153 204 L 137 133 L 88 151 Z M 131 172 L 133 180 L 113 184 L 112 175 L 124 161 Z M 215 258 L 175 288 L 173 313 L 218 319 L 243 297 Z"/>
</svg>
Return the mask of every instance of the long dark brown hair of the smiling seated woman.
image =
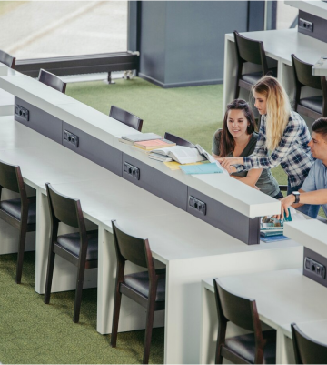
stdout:
<svg viewBox="0 0 327 365">
<path fill-rule="evenodd" d="M 223 117 L 223 130 L 218 133 L 216 138 L 220 138 L 220 154 L 219 157 L 226 157 L 230 152 L 235 149 L 235 140 L 231 135 L 227 127 L 228 112 L 230 110 L 243 110 L 244 117 L 246 117 L 249 126 L 246 129 L 246 133 L 251 135 L 254 132 L 255 121 L 253 116 L 253 111 L 251 110 L 249 104 L 243 99 L 235 99 L 232 103 L 227 105 L 226 113 Z"/>
</svg>

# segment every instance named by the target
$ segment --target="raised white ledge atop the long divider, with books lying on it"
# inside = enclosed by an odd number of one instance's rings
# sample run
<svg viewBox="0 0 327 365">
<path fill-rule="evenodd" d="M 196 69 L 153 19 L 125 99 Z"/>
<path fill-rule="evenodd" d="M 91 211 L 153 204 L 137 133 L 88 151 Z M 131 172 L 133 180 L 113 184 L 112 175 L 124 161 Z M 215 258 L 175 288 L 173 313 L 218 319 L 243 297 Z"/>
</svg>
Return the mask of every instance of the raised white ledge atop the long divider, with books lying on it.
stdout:
<svg viewBox="0 0 327 365">
<path fill-rule="evenodd" d="M 137 158 L 146 165 L 154 167 L 183 184 L 239 211 L 244 216 L 255 218 L 280 212 L 280 202 L 278 200 L 223 174 L 186 176 L 182 171 L 171 171 L 163 163 L 151 160 L 143 152 L 139 152 L 134 147 L 126 146 L 118 141 L 119 137 L 124 134 L 137 133 L 134 129 L 70 96 L 58 93 L 51 87 L 45 86 L 29 76 L 0 77 L 0 87 L 24 99 L 27 103 L 44 109 L 45 112 L 54 117 L 58 117 L 64 122 L 104 141 L 104 143 Z"/>
</svg>

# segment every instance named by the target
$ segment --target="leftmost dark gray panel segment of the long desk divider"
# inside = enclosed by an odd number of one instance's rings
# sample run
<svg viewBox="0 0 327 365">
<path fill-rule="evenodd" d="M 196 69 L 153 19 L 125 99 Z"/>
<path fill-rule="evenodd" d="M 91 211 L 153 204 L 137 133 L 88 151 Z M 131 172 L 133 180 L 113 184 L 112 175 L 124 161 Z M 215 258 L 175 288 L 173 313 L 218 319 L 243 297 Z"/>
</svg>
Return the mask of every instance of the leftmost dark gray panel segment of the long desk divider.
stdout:
<svg viewBox="0 0 327 365">
<path fill-rule="evenodd" d="M 26 127 L 34 129 L 36 132 L 41 133 L 45 137 L 48 137 L 55 142 L 62 143 L 62 131 L 63 121 L 51 114 L 46 113 L 44 110 L 39 109 L 32 104 L 26 103 L 24 100 L 15 96 L 15 107 L 23 106 L 29 112 L 29 121 L 25 118 L 15 115 L 15 120 L 24 124 Z"/>
</svg>

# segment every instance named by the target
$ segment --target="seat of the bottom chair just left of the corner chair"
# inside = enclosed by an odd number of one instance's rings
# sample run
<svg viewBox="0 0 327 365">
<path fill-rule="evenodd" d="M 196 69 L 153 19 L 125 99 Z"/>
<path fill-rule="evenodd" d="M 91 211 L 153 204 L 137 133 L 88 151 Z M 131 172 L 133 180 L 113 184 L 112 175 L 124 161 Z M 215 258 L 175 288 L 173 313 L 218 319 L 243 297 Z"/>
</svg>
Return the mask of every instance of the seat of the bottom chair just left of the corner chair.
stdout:
<svg viewBox="0 0 327 365">
<path fill-rule="evenodd" d="M 263 365 L 274 365 L 276 363 L 276 331 L 263 331 L 263 338 L 268 339 L 264 347 Z M 224 346 L 241 355 L 245 360 L 254 363 L 255 340 L 253 333 L 226 339 Z"/>
</svg>

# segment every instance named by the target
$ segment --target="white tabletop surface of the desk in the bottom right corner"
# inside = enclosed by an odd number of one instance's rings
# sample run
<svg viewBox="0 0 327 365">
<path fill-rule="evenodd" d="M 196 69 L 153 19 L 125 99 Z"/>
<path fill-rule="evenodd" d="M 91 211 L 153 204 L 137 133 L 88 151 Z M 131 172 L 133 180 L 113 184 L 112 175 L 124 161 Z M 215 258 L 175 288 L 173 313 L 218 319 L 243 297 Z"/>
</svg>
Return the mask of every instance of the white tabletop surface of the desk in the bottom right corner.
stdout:
<svg viewBox="0 0 327 365">
<path fill-rule="evenodd" d="M 256 300 L 260 319 L 268 325 L 289 326 L 327 319 L 327 288 L 302 275 L 302 269 L 220 277 L 223 287 Z M 213 291 L 213 279 L 203 280 Z"/>
</svg>

